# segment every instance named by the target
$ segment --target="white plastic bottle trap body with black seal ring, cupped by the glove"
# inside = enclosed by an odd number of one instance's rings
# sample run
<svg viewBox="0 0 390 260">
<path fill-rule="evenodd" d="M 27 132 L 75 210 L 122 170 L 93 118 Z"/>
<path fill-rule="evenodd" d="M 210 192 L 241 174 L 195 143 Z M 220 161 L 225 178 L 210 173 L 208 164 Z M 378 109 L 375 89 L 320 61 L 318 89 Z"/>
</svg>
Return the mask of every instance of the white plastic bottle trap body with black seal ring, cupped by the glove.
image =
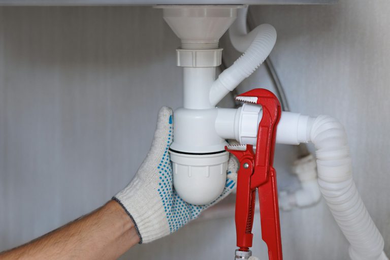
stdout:
<svg viewBox="0 0 390 260">
<path fill-rule="evenodd" d="M 179 108 L 174 113 L 174 142 L 170 147 L 176 192 L 186 202 L 214 201 L 226 181 L 228 145 L 214 127 L 218 110 Z"/>
</svg>

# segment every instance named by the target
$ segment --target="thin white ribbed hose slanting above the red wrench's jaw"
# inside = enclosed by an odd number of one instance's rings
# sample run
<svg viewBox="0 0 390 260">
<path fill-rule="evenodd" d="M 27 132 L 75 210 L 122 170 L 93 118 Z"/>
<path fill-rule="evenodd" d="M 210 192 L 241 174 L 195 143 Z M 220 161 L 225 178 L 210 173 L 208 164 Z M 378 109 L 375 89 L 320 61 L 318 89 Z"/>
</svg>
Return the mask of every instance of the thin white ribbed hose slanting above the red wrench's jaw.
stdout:
<svg viewBox="0 0 390 260">
<path fill-rule="evenodd" d="M 276 30 L 272 25 L 258 26 L 258 33 L 249 48 L 231 67 L 224 70 L 210 90 L 210 103 L 215 106 L 227 93 L 249 77 L 268 57 L 276 42 Z"/>
</svg>

